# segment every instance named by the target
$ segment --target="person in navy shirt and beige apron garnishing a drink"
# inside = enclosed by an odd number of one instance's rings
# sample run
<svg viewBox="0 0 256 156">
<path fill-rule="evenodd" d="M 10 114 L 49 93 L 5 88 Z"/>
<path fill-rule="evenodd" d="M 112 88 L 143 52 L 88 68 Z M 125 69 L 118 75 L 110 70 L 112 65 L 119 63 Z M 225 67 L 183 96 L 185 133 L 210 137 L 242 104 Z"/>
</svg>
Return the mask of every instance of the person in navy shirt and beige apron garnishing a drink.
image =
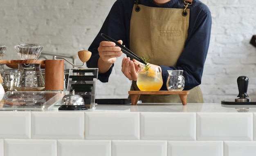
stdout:
<svg viewBox="0 0 256 156">
<path fill-rule="evenodd" d="M 117 0 L 112 6 L 100 33 L 105 33 L 124 44 L 133 53 L 150 57 L 150 66 L 162 69 L 163 86 L 167 90 L 167 70 L 184 70 L 184 90 L 190 90 L 189 103 L 202 103 L 200 83 L 211 34 L 211 13 L 199 0 Z M 99 68 L 98 79 L 108 82 L 120 47 L 94 39 L 89 51 L 89 68 Z M 124 57 L 122 72 L 136 86 L 138 67 L 136 60 Z M 160 98 L 159 98 L 160 97 Z M 178 95 L 141 95 L 142 102 L 180 102 Z"/>
</svg>

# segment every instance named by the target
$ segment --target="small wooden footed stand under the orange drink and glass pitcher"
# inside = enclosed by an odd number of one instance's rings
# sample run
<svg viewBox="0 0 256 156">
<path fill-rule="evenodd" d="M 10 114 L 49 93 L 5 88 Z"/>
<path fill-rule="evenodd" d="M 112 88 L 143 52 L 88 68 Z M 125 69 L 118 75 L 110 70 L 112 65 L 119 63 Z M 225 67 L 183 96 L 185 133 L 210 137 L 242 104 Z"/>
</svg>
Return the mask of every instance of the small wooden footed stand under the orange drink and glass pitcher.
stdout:
<svg viewBox="0 0 256 156">
<path fill-rule="evenodd" d="M 182 102 L 182 105 L 186 105 L 187 101 L 187 94 L 189 94 L 188 90 L 182 90 L 182 91 L 165 91 L 165 90 L 160 90 L 160 91 L 129 91 L 129 94 L 131 94 L 131 102 L 132 105 L 137 105 L 139 96 L 141 94 L 159 94 L 159 95 L 171 95 L 171 94 L 178 94 L 180 96 L 180 100 Z"/>
</svg>

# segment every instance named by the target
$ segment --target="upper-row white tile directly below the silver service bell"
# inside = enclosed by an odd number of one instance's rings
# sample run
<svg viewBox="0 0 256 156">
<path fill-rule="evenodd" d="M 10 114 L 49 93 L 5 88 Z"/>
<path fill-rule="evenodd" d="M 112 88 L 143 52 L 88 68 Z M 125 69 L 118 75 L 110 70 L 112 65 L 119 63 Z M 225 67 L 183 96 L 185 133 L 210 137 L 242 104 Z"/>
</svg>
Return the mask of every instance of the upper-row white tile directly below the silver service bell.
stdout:
<svg viewBox="0 0 256 156">
<path fill-rule="evenodd" d="M 31 112 L 31 138 L 84 139 L 84 112 Z"/>
</svg>

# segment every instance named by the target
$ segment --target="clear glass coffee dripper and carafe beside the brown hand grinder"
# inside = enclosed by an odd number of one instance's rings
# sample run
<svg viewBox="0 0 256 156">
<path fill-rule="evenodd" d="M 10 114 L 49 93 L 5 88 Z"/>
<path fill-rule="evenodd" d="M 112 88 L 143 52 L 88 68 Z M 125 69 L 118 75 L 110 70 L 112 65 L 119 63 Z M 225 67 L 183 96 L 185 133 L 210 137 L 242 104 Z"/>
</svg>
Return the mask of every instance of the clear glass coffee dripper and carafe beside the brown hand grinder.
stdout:
<svg viewBox="0 0 256 156">
<path fill-rule="evenodd" d="M 35 60 L 43 50 L 43 46 L 34 43 L 18 44 L 15 46 L 18 56 L 22 60 Z M 45 82 L 40 64 L 18 64 L 17 75 L 13 88 L 18 91 L 38 91 L 45 88 Z"/>
</svg>

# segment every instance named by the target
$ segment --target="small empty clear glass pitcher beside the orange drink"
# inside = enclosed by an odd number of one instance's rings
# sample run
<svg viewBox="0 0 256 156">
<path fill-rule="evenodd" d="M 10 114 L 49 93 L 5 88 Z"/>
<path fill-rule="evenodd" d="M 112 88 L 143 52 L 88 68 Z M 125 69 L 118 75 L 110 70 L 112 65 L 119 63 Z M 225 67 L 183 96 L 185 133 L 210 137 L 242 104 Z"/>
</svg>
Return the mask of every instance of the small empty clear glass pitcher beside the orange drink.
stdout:
<svg viewBox="0 0 256 156">
<path fill-rule="evenodd" d="M 183 70 L 167 70 L 169 76 L 166 87 L 170 91 L 181 91 L 185 86 L 185 78 L 182 76 Z"/>
</svg>

